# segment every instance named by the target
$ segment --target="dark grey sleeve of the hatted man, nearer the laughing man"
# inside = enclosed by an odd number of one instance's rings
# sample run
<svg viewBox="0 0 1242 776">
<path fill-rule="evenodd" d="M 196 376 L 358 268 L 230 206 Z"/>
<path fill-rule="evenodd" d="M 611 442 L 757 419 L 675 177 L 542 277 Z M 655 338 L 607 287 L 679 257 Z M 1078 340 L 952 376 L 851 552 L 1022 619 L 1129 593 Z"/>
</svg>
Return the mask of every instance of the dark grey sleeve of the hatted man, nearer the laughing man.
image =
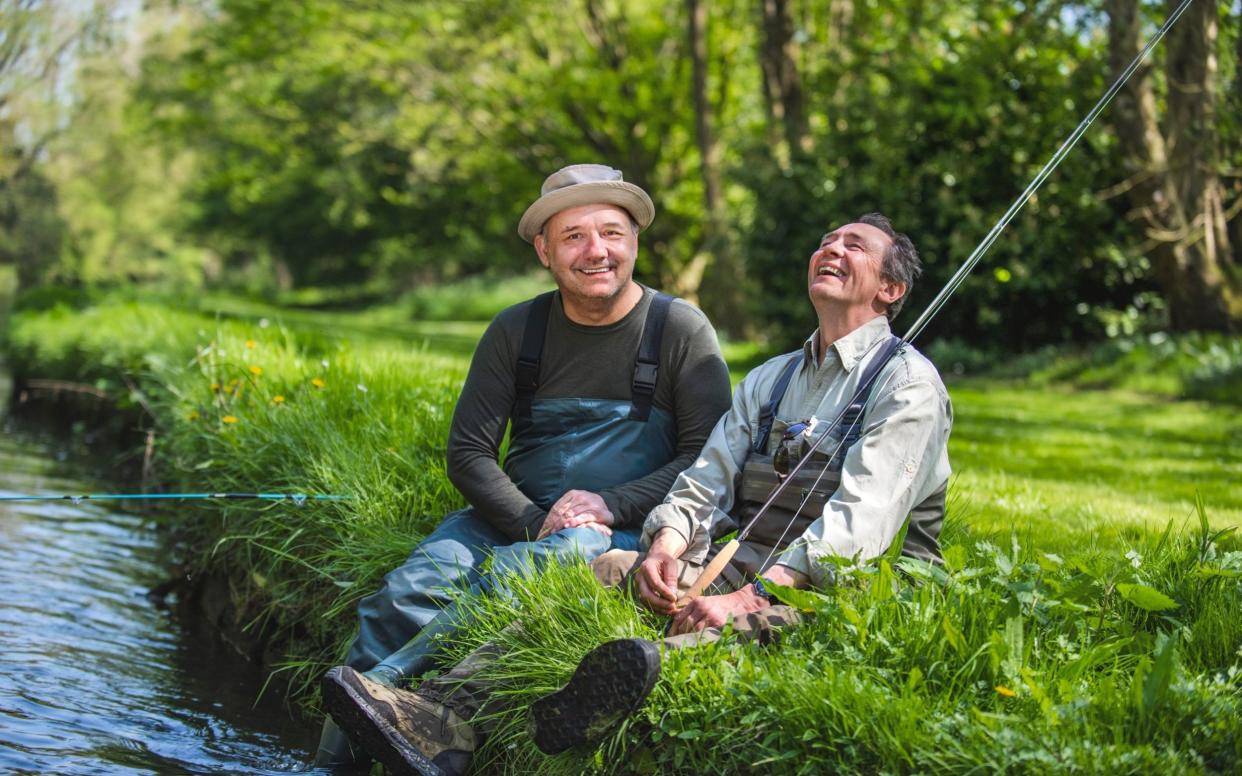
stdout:
<svg viewBox="0 0 1242 776">
<path fill-rule="evenodd" d="M 668 493 L 678 473 L 694 463 L 712 427 L 729 407 L 729 369 L 720 355 L 715 330 L 694 312 L 693 330 L 662 354 L 661 369 L 672 379 L 677 447 L 672 461 L 655 472 L 600 493 L 619 528 L 642 524 L 643 518 Z M 669 334 L 672 332 L 668 332 Z M 667 338 L 666 339 L 673 339 Z"/>
</svg>

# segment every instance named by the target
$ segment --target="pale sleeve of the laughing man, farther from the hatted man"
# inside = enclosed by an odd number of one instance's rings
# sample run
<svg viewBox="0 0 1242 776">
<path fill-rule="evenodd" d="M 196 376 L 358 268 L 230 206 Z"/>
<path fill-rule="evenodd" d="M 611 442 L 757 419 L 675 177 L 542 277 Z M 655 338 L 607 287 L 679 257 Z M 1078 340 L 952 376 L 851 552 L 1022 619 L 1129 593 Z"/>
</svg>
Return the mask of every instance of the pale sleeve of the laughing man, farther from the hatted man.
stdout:
<svg viewBox="0 0 1242 776">
<path fill-rule="evenodd" d="M 908 380 L 882 394 L 867 417 L 823 514 L 776 561 L 820 587 L 831 582 L 826 559 L 882 555 L 910 509 L 949 479 L 953 408 L 943 386 Z"/>
</svg>

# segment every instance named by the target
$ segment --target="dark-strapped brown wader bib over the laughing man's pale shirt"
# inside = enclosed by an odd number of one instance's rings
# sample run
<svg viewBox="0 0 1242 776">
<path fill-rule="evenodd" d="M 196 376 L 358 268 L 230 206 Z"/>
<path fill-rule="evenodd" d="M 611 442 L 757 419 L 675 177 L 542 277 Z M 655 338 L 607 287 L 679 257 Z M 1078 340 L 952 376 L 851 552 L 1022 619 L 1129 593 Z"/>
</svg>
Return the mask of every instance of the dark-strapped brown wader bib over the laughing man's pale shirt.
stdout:
<svg viewBox="0 0 1242 776">
<path fill-rule="evenodd" d="M 738 586 L 745 584 L 748 579 L 758 576 L 769 555 L 775 557 L 790 543 L 799 539 L 811 523 L 823 515 L 825 505 L 841 485 L 841 467 L 845 464 L 846 454 L 862 436 L 863 411 L 874 387 L 874 377 L 903 344 L 900 339 L 891 338 L 881 353 L 868 364 L 859 380 L 859 385 L 867 386 L 866 391 L 854 397 L 841 420 L 828 431 L 828 438 L 818 446 L 818 449 L 801 471 L 789 477 L 792 482 L 773 502 L 763 519 L 751 528 L 734 560 L 730 561 L 730 566 L 737 567 L 733 569 L 732 574 L 729 569 L 724 572 L 729 584 Z M 789 390 L 789 384 L 802 359 L 804 355 L 799 353 L 789 360 L 773 386 L 768 402 L 760 411 L 759 431 L 755 435 L 750 454 L 746 457 L 741 480 L 737 489 L 734 512 L 739 525 L 745 525 L 759 513 L 780 482 L 773 467 L 775 454 L 780 453 L 780 448 L 785 446 L 786 454 L 796 463 L 814 443 L 814 440 L 817 440 L 822 433 L 820 430 L 814 431 L 811 442 L 807 442 L 800 433 L 794 438 L 786 438 L 786 431 L 791 423 L 775 420 L 776 408 L 785 397 L 785 391 Z M 945 492 L 946 487 L 941 485 L 910 510 L 902 555 L 932 561 L 940 560 L 938 536 L 940 535 L 940 524 L 944 521 Z M 746 545 L 753 546 L 748 550 Z"/>
</svg>

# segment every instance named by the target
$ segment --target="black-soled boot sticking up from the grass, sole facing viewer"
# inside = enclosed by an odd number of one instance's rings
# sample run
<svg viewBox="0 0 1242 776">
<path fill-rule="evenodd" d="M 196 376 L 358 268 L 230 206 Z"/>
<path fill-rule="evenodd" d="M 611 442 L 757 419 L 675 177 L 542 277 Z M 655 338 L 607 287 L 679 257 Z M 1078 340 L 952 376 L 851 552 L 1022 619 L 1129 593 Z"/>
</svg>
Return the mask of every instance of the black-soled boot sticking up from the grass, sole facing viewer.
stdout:
<svg viewBox="0 0 1242 776">
<path fill-rule="evenodd" d="M 600 644 L 565 687 L 530 704 L 530 738 L 548 755 L 601 739 L 642 706 L 658 678 L 655 642 L 622 638 Z"/>
</svg>

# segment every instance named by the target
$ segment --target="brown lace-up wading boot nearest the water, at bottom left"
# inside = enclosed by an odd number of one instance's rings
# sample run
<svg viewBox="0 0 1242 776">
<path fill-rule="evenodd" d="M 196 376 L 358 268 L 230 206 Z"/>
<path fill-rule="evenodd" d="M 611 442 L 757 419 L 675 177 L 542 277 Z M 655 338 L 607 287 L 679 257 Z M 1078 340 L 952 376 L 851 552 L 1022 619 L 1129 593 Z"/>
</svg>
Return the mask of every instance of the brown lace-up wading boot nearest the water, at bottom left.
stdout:
<svg viewBox="0 0 1242 776">
<path fill-rule="evenodd" d="M 443 703 L 385 687 L 348 665 L 324 674 L 322 689 L 337 724 L 394 776 L 456 776 L 469 769 L 474 730 Z"/>
</svg>

